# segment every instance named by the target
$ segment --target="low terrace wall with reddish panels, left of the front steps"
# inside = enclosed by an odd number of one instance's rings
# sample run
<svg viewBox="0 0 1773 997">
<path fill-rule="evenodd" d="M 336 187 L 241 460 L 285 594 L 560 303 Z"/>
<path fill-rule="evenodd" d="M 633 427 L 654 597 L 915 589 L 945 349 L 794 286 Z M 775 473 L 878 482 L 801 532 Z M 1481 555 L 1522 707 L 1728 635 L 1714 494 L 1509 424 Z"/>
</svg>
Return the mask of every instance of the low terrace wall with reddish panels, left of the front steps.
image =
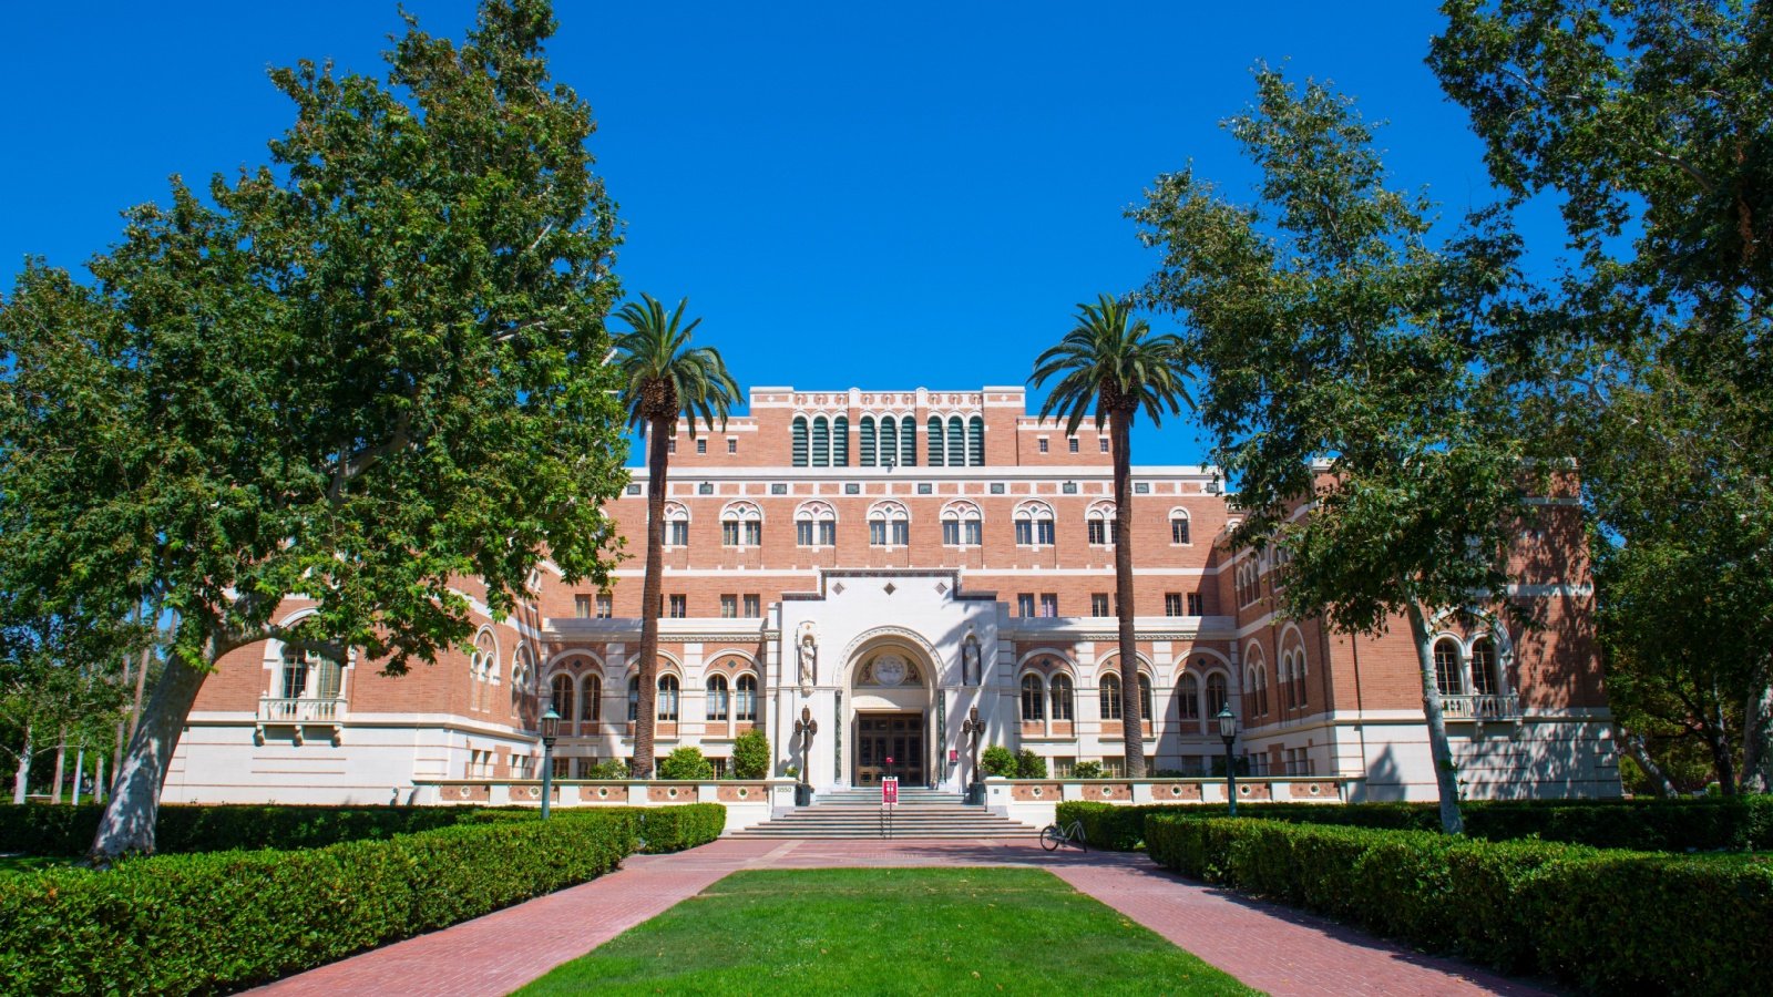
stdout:
<svg viewBox="0 0 1773 997">
<path fill-rule="evenodd" d="M 482 807 L 541 805 L 541 779 L 420 779 L 413 782 L 415 805 L 477 804 Z M 709 781 L 631 781 L 631 779 L 557 779 L 555 807 L 670 807 L 676 804 L 722 804 L 727 828 L 769 820 L 771 813 L 794 805 L 791 779 L 709 779 Z"/>
</svg>

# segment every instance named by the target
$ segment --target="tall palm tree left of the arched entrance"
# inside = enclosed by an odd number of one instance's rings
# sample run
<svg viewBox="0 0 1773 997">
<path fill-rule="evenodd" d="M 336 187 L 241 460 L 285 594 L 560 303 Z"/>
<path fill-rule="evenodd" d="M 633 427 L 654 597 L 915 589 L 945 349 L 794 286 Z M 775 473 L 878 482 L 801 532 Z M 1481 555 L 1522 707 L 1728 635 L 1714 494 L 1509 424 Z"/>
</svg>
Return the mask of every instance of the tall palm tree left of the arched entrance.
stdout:
<svg viewBox="0 0 1773 997">
<path fill-rule="evenodd" d="M 658 718 L 658 653 L 660 610 L 665 575 L 665 472 L 670 463 L 670 436 L 677 415 L 690 417 L 690 438 L 700 419 L 709 429 L 718 419 L 727 424 L 727 413 L 739 397 L 739 385 L 727 373 L 720 351 L 711 346 L 690 346 L 690 334 L 702 319 L 683 325 L 688 298 L 677 302 L 677 310 L 665 314 L 665 305 L 651 294 L 628 302 L 615 318 L 631 332 L 615 339 L 613 364 L 622 373 L 622 404 L 628 408 L 628 426 L 640 429 L 647 440 L 647 580 L 640 587 L 640 703 L 635 708 L 635 779 L 652 775 L 652 724 Z"/>
</svg>

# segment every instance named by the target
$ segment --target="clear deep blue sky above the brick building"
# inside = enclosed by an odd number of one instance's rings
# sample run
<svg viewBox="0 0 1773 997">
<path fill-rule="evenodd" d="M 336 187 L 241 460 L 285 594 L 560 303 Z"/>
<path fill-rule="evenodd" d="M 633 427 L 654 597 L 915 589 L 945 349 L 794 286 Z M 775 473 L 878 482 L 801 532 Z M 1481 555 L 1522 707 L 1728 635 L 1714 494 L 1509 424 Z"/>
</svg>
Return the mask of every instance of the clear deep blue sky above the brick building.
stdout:
<svg viewBox="0 0 1773 997">
<path fill-rule="evenodd" d="M 408 0 L 459 37 L 470 2 Z M 1085 11 L 1089 7 L 1089 11 Z M 0 11 L 0 286 L 78 268 L 117 213 L 264 160 L 271 66 L 381 73 L 388 0 L 11 4 Z M 1422 66 L 1433 4 L 558 2 L 553 75 L 590 101 L 629 293 L 688 294 L 741 385 L 1023 383 L 1076 302 L 1154 264 L 1121 215 L 1190 160 L 1239 195 L 1218 122 L 1248 69 L 1333 80 L 1395 183 L 1491 199 L 1464 114 Z M 1557 239 L 1541 225 L 1535 236 Z M 1163 319 L 1158 321 L 1163 325 Z M 1138 463 L 1199 463 L 1186 417 Z"/>
</svg>

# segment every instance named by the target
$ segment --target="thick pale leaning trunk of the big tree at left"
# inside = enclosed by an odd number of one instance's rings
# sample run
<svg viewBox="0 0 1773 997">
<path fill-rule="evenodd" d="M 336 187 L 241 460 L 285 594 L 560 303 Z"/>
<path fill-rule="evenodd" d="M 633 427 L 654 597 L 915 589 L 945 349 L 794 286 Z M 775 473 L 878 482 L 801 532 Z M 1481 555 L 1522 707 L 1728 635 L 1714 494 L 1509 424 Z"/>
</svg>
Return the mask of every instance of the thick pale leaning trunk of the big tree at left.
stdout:
<svg viewBox="0 0 1773 997">
<path fill-rule="evenodd" d="M 184 718 L 197 703 L 204 674 L 204 669 L 177 655 L 167 658 L 167 667 L 160 672 L 154 694 L 149 695 L 147 708 L 142 710 L 129 747 L 124 750 L 122 768 L 117 770 L 117 793 L 105 807 L 99 832 L 92 839 L 90 857 L 96 864 L 108 866 L 129 852 L 154 852 L 160 788 L 167 782 L 172 750 L 179 745 Z"/>
</svg>

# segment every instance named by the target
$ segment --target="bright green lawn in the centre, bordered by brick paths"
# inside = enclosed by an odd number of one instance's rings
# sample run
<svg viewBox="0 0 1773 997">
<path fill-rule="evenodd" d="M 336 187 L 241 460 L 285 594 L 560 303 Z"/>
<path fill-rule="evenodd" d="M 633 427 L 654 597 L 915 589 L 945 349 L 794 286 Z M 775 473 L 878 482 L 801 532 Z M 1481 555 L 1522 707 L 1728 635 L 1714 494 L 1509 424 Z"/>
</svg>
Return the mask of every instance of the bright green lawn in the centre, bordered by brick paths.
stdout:
<svg viewBox="0 0 1773 997">
<path fill-rule="evenodd" d="M 519 993 L 1254 993 L 1041 869 L 734 873 Z"/>
</svg>

